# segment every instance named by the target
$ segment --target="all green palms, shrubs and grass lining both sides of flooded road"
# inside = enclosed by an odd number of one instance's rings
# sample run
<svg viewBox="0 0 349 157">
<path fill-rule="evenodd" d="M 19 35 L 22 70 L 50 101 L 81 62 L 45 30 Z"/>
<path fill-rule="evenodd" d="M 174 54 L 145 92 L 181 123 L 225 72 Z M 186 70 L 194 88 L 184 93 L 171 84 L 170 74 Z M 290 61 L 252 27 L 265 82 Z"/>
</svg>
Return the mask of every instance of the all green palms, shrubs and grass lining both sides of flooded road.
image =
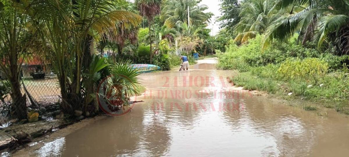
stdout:
<svg viewBox="0 0 349 157">
<path fill-rule="evenodd" d="M 20 73 L 32 58 L 52 67 L 60 108 L 68 115 L 98 112 L 92 95 L 107 75 L 131 80 L 113 80 L 122 87 L 117 89 L 120 102 L 126 103 L 138 83 L 130 63 L 170 70 L 179 67 L 180 55 L 193 64 L 193 53 L 216 55 L 219 69 L 242 73 L 233 81 L 246 89 L 292 92 L 291 97 L 303 99 L 348 98 L 347 0 L 222 0 L 222 29 L 215 36 L 207 29 L 213 14 L 199 3 L 0 0 L 0 70 L 7 78 L 1 81 L 1 97 L 12 99 L 8 113 L 27 117 L 30 93 L 21 90 Z"/>
</svg>

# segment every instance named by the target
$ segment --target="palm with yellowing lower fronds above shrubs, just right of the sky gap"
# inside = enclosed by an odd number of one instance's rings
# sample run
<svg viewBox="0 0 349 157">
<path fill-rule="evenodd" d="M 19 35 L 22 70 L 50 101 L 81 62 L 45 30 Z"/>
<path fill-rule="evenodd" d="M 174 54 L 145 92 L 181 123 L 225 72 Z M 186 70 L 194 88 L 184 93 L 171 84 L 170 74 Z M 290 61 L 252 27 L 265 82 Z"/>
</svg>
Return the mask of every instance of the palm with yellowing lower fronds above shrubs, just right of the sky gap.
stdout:
<svg viewBox="0 0 349 157">
<path fill-rule="evenodd" d="M 247 0 L 239 8 L 239 23 L 234 26 L 236 42 L 244 43 L 249 38 L 263 33 L 269 24 L 280 17 L 283 11 L 273 8 L 275 0 Z"/>
</svg>

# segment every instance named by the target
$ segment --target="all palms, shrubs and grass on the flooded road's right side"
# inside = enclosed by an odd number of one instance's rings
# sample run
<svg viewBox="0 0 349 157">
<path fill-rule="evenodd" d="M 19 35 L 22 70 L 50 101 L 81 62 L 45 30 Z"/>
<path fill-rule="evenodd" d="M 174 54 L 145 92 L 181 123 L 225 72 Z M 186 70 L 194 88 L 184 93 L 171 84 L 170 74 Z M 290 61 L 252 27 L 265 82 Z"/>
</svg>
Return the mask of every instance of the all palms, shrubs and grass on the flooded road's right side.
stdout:
<svg viewBox="0 0 349 157">
<path fill-rule="evenodd" d="M 219 20 L 234 40 L 217 67 L 238 70 L 231 80 L 247 90 L 347 102 L 348 8 L 347 0 L 223 0 Z"/>
</svg>

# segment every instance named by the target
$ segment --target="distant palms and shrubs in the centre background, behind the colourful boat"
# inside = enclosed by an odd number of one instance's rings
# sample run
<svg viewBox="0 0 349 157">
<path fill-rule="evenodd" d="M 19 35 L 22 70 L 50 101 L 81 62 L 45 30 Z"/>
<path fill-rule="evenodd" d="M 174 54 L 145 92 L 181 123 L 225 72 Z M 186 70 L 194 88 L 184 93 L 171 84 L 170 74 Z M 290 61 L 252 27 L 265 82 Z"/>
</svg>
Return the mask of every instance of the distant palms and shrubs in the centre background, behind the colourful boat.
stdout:
<svg viewBox="0 0 349 157">
<path fill-rule="evenodd" d="M 190 64 L 194 64 L 192 57 L 194 52 L 199 53 L 200 57 L 215 54 L 216 51 L 224 52 L 225 45 L 231 37 L 226 31 L 221 31 L 221 35 L 216 37 L 210 36 L 211 30 L 206 27 L 213 14 L 205 12 L 208 6 L 199 5 L 199 2 L 196 0 L 136 1 L 143 16 L 143 22 L 140 25 L 142 28 L 135 28 L 139 30 L 137 42 L 133 43 L 131 39 L 125 38 L 125 46 L 120 48 L 107 37 L 104 50 L 111 49 L 115 60 L 151 63 L 160 66 L 162 70 L 179 67 L 180 55 L 187 55 Z M 149 3 L 147 5 L 154 3 L 154 6 L 147 8 L 146 5 L 142 5 L 143 3 Z M 134 10 L 132 8 L 128 7 Z M 152 10 L 151 13 L 154 15 L 146 13 L 146 10 Z"/>
</svg>

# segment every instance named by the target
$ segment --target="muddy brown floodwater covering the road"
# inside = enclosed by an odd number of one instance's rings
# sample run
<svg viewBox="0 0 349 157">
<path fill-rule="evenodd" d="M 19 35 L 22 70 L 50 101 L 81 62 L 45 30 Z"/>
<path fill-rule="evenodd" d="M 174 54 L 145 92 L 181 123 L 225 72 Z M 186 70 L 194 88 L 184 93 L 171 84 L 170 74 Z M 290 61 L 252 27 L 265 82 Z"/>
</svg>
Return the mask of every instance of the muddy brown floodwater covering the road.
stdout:
<svg viewBox="0 0 349 157">
<path fill-rule="evenodd" d="M 142 74 L 133 111 L 28 149 L 29 156 L 347 156 L 349 121 L 231 87 L 205 59 L 188 71 Z M 304 102 L 303 102 L 304 103 Z M 292 105 L 292 103 L 290 103 Z M 325 109 L 324 109 L 325 110 Z M 322 110 L 321 112 L 324 112 Z"/>
</svg>

